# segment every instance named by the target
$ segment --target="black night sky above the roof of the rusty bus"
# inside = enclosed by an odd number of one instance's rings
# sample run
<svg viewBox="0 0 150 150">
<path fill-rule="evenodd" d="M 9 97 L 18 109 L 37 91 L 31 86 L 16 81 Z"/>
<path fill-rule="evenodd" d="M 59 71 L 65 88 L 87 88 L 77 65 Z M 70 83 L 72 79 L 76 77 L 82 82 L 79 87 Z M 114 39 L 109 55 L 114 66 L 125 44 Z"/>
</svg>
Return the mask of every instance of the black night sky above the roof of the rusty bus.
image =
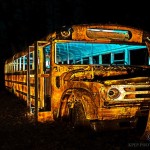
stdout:
<svg viewBox="0 0 150 150">
<path fill-rule="evenodd" d="M 63 25 L 118 23 L 150 31 L 149 10 L 142 3 L 110 2 L 0 0 L 0 68 L 6 58 Z"/>
</svg>

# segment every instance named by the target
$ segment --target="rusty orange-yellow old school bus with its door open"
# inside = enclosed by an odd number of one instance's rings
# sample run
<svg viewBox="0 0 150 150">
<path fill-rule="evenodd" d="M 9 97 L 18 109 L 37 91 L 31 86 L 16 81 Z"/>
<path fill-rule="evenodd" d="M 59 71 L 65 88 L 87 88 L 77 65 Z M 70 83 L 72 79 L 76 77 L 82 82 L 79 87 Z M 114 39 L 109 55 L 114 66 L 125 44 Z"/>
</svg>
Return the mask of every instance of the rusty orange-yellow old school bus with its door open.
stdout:
<svg viewBox="0 0 150 150">
<path fill-rule="evenodd" d="M 5 86 L 39 121 L 135 127 L 149 114 L 150 34 L 118 24 L 64 26 L 6 60 Z"/>
</svg>

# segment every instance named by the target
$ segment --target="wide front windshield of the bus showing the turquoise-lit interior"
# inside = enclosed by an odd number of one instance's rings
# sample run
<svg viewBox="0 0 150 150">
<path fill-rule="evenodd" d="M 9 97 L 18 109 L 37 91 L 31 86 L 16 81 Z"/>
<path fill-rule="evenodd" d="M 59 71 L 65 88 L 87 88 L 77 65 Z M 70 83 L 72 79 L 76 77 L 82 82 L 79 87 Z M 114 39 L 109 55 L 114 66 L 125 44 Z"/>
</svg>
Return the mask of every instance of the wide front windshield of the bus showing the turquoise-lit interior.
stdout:
<svg viewBox="0 0 150 150">
<path fill-rule="evenodd" d="M 56 64 L 149 65 L 146 45 L 58 42 Z"/>
</svg>

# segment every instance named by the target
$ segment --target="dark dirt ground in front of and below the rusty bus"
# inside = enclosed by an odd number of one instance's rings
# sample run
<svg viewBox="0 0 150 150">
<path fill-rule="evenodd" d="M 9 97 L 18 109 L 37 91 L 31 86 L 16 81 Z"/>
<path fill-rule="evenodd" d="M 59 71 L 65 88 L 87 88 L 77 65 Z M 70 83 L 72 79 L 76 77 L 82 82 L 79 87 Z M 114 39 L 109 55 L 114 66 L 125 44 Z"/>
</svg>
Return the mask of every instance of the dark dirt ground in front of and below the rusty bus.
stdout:
<svg viewBox="0 0 150 150">
<path fill-rule="evenodd" d="M 26 116 L 26 104 L 0 91 L 0 150 L 122 150 L 150 149 L 137 130 L 93 133 L 62 122 L 35 124 Z"/>
</svg>

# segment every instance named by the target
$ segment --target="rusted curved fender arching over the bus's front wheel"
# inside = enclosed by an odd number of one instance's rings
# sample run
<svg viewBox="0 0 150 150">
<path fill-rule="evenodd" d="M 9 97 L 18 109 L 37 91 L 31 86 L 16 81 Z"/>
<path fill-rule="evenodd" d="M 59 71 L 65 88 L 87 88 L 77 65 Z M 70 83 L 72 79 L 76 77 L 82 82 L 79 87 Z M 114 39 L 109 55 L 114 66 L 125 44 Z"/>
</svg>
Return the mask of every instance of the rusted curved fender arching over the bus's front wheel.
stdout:
<svg viewBox="0 0 150 150">
<path fill-rule="evenodd" d="M 75 102 L 80 101 L 83 104 L 86 119 L 95 120 L 97 119 L 97 107 L 94 103 L 94 98 L 91 92 L 83 88 L 73 88 L 66 90 L 61 99 L 59 116 L 67 115 L 65 114 L 66 105 L 69 108 L 73 108 Z"/>
</svg>

